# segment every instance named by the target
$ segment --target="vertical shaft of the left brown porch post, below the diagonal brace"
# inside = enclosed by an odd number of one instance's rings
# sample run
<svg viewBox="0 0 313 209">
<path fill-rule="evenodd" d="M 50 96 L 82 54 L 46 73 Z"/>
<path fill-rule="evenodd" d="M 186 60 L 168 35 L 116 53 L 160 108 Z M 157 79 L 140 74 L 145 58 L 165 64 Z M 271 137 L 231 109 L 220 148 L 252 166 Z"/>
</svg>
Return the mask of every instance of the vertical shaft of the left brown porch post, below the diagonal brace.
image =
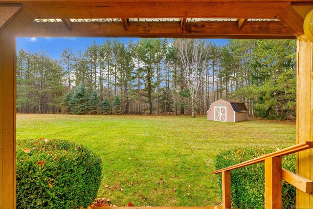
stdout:
<svg viewBox="0 0 313 209">
<path fill-rule="evenodd" d="M 0 34 L 0 208 L 16 208 L 15 37 Z"/>
</svg>

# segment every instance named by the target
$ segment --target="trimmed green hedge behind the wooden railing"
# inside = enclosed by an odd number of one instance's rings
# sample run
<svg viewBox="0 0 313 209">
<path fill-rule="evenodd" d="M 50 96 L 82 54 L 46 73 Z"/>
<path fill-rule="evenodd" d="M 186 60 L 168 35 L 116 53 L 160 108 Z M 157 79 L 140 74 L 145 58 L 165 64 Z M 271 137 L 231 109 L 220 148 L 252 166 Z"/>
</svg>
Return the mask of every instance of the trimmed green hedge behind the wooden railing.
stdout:
<svg viewBox="0 0 313 209">
<path fill-rule="evenodd" d="M 221 169 L 276 151 L 274 147 L 233 148 L 216 156 L 215 168 Z M 282 147 L 280 147 L 282 149 Z M 295 172 L 296 156 L 282 158 L 282 167 Z M 241 209 L 264 209 L 264 163 L 231 171 L 232 207 Z M 219 175 L 219 188 L 222 188 Z M 295 208 L 296 189 L 283 181 L 282 199 L 284 209 Z M 222 197 L 222 191 L 220 192 Z"/>
</svg>

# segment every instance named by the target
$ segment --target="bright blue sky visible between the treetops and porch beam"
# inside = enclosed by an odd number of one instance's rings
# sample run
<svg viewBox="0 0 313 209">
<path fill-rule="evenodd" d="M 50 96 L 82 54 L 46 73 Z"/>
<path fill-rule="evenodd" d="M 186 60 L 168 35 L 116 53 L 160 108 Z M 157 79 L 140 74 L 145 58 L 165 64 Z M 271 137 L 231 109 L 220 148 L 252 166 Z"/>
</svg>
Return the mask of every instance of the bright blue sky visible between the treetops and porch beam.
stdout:
<svg viewBox="0 0 313 209">
<path fill-rule="evenodd" d="M 110 38 L 113 40 L 113 38 Z M 79 49 L 84 50 L 87 45 L 91 45 L 93 41 L 98 44 L 103 43 L 107 38 L 17 38 L 17 50 L 24 49 L 34 53 L 35 51 L 44 50 L 51 59 L 59 59 L 63 49 L 71 48 L 73 52 Z M 120 42 L 129 42 L 129 38 L 118 38 Z M 138 38 L 132 38 L 134 42 Z M 224 45 L 227 43 L 226 39 L 211 39 L 217 45 Z"/>
</svg>

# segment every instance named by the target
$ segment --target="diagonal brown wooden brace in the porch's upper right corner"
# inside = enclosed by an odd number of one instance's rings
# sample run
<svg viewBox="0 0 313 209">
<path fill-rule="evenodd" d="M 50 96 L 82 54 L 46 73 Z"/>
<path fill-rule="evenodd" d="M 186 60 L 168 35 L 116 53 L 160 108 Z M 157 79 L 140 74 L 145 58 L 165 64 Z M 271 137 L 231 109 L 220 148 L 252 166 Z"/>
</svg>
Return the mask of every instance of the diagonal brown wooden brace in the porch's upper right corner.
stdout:
<svg viewBox="0 0 313 209">
<path fill-rule="evenodd" d="M 293 35 L 301 36 L 304 34 L 303 32 L 303 17 L 297 13 L 292 6 L 288 6 L 284 8 L 280 13 L 278 13 L 277 18 L 284 24 L 287 28 L 289 28 Z"/>
</svg>

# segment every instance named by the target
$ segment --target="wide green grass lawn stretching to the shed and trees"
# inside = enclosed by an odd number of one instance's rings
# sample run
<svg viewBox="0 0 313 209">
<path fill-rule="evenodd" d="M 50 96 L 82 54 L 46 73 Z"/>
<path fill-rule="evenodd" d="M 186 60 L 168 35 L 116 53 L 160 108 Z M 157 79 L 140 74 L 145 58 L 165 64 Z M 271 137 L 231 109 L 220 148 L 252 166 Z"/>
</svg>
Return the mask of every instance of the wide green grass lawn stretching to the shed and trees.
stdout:
<svg viewBox="0 0 313 209">
<path fill-rule="evenodd" d="M 295 134 L 293 124 L 206 116 L 17 115 L 17 139 L 66 139 L 99 154 L 104 178 L 98 196 L 117 206 L 214 206 L 220 202 L 211 174 L 217 153 L 291 146 Z"/>
</svg>

